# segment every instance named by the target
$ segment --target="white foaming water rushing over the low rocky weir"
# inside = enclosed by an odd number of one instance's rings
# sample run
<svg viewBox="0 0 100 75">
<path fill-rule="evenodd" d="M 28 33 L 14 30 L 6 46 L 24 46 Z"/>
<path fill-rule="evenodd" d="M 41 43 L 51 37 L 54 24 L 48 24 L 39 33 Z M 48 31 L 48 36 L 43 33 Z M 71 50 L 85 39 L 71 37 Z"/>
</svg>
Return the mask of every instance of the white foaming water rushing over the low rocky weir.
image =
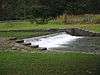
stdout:
<svg viewBox="0 0 100 75">
<path fill-rule="evenodd" d="M 56 33 L 41 37 L 33 37 L 24 39 L 25 43 L 31 43 L 32 45 L 39 45 L 39 47 L 45 47 L 47 49 L 63 47 L 62 44 L 69 44 L 71 41 L 74 41 L 81 37 L 71 36 L 65 32 Z"/>
</svg>

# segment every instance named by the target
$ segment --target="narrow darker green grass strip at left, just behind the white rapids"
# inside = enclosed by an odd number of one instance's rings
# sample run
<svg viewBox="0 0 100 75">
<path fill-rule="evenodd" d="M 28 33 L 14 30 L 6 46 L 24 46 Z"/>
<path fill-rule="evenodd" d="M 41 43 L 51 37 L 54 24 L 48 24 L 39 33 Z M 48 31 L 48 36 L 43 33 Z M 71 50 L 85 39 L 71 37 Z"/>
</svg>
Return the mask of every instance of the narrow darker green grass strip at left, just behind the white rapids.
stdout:
<svg viewBox="0 0 100 75">
<path fill-rule="evenodd" d="M 8 32 L 0 32 L 0 37 L 16 37 L 16 38 L 29 38 L 50 34 L 49 32 L 32 32 L 32 31 L 8 31 Z"/>
</svg>

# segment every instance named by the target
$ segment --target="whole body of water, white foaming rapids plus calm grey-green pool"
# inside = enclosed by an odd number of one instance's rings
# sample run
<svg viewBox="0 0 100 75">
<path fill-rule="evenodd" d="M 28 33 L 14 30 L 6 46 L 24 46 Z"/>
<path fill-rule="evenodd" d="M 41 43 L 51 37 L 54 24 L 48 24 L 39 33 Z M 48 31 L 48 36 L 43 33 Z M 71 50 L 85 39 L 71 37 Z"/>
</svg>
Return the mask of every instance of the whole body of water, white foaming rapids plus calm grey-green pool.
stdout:
<svg viewBox="0 0 100 75">
<path fill-rule="evenodd" d="M 100 37 L 72 36 L 66 32 L 27 38 L 24 42 L 47 50 L 100 52 Z"/>
</svg>

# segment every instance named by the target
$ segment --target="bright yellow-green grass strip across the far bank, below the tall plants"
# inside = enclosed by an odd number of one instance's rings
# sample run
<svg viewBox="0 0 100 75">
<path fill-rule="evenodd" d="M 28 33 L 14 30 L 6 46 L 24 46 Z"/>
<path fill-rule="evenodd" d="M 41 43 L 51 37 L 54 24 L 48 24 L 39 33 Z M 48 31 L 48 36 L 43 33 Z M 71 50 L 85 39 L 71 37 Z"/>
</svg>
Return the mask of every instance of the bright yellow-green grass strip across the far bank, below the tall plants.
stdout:
<svg viewBox="0 0 100 75">
<path fill-rule="evenodd" d="M 0 30 L 32 30 L 32 29 L 62 29 L 82 28 L 90 31 L 100 32 L 100 24 L 63 24 L 49 22 L 48 24 L 31 24 L 30 22 L 5 22 L 0 23 Z"/>
</svg>

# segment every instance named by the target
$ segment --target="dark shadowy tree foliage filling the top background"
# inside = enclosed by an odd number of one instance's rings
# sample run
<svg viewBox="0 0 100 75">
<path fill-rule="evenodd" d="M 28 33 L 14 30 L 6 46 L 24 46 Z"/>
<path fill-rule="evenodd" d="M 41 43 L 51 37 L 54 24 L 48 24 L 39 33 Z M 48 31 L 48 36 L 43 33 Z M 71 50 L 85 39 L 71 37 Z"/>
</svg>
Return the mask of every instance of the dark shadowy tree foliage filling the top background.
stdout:
<svg viewBox="0 0 100 75">
<path fill-rule="evenodd" d="M 67 14 L 99 14 L 100 0 L 0 0 L 0 20 L 43 22 Z"/>
</svg>

